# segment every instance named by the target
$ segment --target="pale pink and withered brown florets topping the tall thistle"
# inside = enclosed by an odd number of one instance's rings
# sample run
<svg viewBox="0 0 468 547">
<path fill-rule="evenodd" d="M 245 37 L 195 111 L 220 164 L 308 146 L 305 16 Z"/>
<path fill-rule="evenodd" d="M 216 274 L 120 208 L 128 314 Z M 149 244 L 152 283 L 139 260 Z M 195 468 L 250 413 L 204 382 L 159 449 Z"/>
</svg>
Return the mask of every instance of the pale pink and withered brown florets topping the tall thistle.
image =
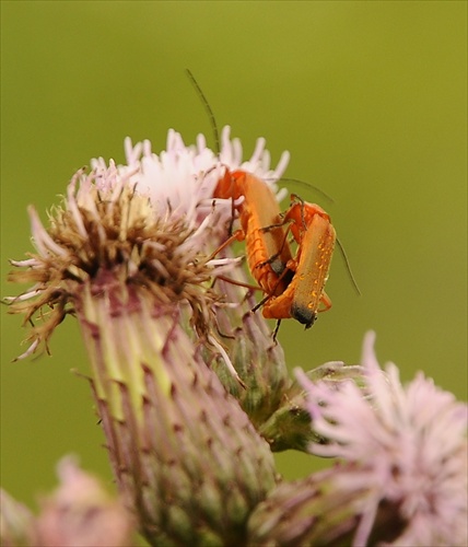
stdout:
<svg viewBox="0 0 468 547">
<path fill-rule="evenodd" d="M 245 168 L 262 176 L 273 189 L 286 163 L 284 153 L 270 170 L 265 140 L 259 139 L 251 159 L 242 161 L 242 147 L 222 132 L 219 158 L 202 136 L 186 147 L 169 130 L 167 150 L 152 153 L 150 141 L 125 143 L 127 164 L 107 165 L 101 158 L 92 171 L 80 170 L 71 179 L 61 207 L 49 213 L 45 228 L 33 207 L 30 217 L 36 253 L 26 260 L 12 260 L 14 282 L 33 283 L 30 290 L 8 298 L 12 313 L 35 316 L 27 357 L 47 342 L 67 314 L 77 312 L 77 294 L 92 281 L 95 287 L 116 277 L 127 284 L 144 287 L 162 304 L 189 304 L 190 324 L 204 340 L 213 329 L 212 310 L 220 295 L 209 281 L 236 260 L 211 257 L 220 245 L 232 210 L 227 200 L 213 201 L 215 185 L 227 168 Z M 116 276 L 117 274 L 117 276 Z M 213 339 L 211 337 L 211 339 Z"/>
</svg>

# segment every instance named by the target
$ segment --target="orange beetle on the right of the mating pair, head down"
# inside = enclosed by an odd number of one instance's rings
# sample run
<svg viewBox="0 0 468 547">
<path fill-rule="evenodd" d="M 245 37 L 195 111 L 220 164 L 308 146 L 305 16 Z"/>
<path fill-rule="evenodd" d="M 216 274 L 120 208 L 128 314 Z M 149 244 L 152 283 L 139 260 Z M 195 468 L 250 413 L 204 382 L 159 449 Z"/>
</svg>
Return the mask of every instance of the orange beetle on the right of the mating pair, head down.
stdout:
<svg viewBox="0 0 468 547">
<path fill-rule="evenodd" d="M 290 222 L 299 245 L 295 258 L 285 265 L 294 276 L 281 294 L 266 300 L 262 314 L 271 319 L 293 317 L 309 328 L 318 312 L 331 307 L 324 288 L 337 235 L 330 217 L 320 207 L 295 195 L 291 197 L 293 201 L 283 222 Z"/>
</svg>

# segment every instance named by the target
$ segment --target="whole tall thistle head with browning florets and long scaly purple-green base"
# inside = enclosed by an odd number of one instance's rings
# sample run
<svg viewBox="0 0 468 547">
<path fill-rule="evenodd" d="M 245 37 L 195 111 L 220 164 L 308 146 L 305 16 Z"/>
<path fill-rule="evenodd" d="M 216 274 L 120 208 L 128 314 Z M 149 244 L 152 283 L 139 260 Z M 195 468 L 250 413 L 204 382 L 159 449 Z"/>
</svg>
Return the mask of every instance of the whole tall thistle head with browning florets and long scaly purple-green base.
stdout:
<svg viewBox="0 0 468 547">
<path fill-rule="evenodd" d="M 229 129 L 219 158 L 202 137 L 185 147 L 174 131 L 159 155 L 127 140 L 127 164 L 98 159 L 90 174 L 79 171 L 47 226 L 30 208 L 36 253 L 12 263 L 11 280 L 32 288 L 9 299 L 10 310 L 38 322 L 22 357 L 47 346 L 67 314 L 78 317 L 116 482 L 152 545 L 242 543 L 276 480 L 270 447 L 220 382 L 220 361 L 237 380 L 237 370 L 255 371 L 261 388 L 250 400 L 264 416 L 280 398 L 267 380 L 274 388 L 286 377 L 281 349 L 264 357 L 270 333 L 248 314 L 245 289 L 222 279 L 213 287 L 226 270 L 243 281 L 238 260 L 215 254 L 232 203 L 214 201 L 213 190 L 225 168 L 274 184 L 286 155 L 270 171 L 264 147 L 242 163 Z M 238 345 L 236 366 L 222 330 Z"/>
</svg>

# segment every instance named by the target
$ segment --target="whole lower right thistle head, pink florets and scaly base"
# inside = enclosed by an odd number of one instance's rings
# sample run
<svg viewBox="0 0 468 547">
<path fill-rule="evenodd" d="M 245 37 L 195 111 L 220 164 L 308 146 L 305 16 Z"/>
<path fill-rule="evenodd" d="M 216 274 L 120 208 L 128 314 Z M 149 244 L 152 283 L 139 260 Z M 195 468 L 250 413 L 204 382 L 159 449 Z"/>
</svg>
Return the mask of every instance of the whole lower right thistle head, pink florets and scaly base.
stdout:
<svg viewBox="0 0 468 547">
<path fill-rule="evenodd" d="M 309 452 L 339 461 L 273 489 L 250 517 L 253 544 L 467 545 L 467 405 L 422 373 L 401 385 L 374 340 L 359 384 L 296 370 L 319 439 Z"/>
</svg>

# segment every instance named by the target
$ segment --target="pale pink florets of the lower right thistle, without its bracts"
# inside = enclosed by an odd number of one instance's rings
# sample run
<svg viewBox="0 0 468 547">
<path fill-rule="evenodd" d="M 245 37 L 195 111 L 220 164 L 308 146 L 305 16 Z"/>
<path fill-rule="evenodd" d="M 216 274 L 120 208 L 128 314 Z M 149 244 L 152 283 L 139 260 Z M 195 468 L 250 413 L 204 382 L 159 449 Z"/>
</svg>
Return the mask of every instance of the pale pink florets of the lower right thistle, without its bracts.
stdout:
<svg viewBox="0 0 468 547">
<path fill-rule="evenodd" d="M 342 459 L 341 491 L 366 492 L 355 496 L 354 545 L 367 544 L 384 505 L 406 523 L 396 545 L 466 545 L 467 406 L 422 373 L 402 386 L 395 364 L 381 369 L 374 339 L 364 341 L 365 396 L 352 382 L 330 389 L 297 371 L 314 429 L 328 439 L 311 452 Z"/>
</svg>

